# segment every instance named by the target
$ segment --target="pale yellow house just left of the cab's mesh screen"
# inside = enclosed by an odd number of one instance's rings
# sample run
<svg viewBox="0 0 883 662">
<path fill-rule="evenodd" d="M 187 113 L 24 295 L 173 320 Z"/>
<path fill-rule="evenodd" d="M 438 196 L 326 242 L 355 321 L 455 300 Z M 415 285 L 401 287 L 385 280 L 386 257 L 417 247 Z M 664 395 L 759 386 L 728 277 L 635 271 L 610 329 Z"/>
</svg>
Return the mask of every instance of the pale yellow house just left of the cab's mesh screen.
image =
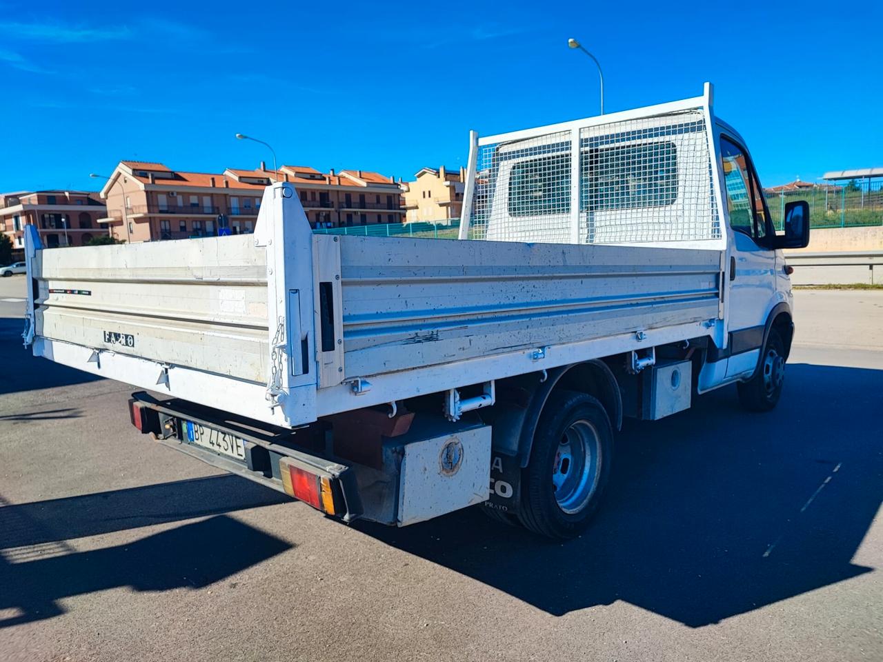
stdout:
<svg viewBox="0 0 883 662">
<path fill-rule="evenodd" d="M 450 222 L 460 218 L 465 182 L 463 168 L 420 170 L 414 181 L 402 184 L 407 222 Z"/>
</svg>

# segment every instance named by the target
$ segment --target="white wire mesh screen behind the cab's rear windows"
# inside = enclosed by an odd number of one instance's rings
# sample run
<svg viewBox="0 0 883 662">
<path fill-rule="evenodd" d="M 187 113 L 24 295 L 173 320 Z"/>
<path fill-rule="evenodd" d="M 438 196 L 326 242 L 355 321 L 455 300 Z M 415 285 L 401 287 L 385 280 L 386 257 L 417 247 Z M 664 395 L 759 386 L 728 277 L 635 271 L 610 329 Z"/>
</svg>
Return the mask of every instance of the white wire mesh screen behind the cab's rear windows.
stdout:
<svg viewBox="0 0 883 662">
<path fill-rule="evenodd" d="M 653 244 L 721 237 L 701 111 L 574 131 L 576 169 L 570 131 L 479 147 L 470 238 Z"/>
</svg>

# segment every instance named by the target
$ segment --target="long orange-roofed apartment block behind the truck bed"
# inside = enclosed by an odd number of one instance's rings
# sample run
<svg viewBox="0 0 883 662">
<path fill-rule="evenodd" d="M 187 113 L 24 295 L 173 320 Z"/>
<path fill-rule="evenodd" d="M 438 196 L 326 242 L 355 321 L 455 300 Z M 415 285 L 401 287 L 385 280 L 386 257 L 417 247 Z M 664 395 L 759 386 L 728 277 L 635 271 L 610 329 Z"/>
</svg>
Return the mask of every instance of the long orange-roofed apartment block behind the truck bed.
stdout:
<svg viewBox="0 0 883 662">
<path fill-rule="evenodd" d="M 131 242 L 253 232 L 265 187 L 277 174 L 266 163 L 219 173 L 172 170 L 162 163 L 119 162 L 102 198 L 111 233 Z M 401 191 L 392 177 L 364 170 L 321 173 L 283 166 L 313 227 L 400 222 Z"/>
</svg>

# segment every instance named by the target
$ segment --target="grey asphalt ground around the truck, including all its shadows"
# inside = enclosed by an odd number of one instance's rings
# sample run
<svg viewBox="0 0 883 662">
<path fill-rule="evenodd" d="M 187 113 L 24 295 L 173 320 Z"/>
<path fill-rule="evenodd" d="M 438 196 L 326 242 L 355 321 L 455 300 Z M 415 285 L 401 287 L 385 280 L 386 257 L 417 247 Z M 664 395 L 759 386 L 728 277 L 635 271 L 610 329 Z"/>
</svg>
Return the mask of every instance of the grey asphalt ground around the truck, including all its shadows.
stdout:
<svg viewBox="0 0 883 662">
<path fill-rule="evenodd" d="M 129 387 L 0 319 L 0 658 L 879 661 L 883 292 L 796 306 L 779 408 L 727 388 L 627 425 L 563 545 L 325 519 L 141 436 Z"/>
</svg>

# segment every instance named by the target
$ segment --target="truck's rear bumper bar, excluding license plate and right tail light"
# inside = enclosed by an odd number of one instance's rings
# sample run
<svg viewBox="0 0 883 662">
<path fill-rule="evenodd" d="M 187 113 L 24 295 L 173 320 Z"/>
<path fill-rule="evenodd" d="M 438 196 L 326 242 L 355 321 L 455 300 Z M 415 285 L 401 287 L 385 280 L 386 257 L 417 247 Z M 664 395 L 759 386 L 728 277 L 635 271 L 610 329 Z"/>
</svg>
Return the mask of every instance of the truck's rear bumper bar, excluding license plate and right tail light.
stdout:
<svg viewBox="0 0 883 662">
<path fill-rule="evenodd" d="M 140 409 L 140 424 L 135 423 L 134 408 Z M 228 413 L 185 402 L 175 398 L 160 400 L 144 391 L 132 394 L 130 400 L 132 423 L 142 433 L 151 436 L 163 446 L 190 455 L 211 466 L 230 471 L 278 492 L 289 494 L 283 482 L 283 473 L 290 466 L 308 473 L 317 480 L 325 480 L 333 493 L 328 508 L 317 506 L 327 515 L 343 522 L 351 522 L 363 515 L 356 472 L 351 463 L 317 453 L 323 439 L 321 429 L 289 430 L 231 416 Z M 190 421 L 243 440 L 245 460 L 221 455 L 209 448 L 189 442 L 182 421 Z M 291 481 L 289 486 L 291 488 Z M 309 503 L 308 501 L 306 501 Z"/>
</svg>

